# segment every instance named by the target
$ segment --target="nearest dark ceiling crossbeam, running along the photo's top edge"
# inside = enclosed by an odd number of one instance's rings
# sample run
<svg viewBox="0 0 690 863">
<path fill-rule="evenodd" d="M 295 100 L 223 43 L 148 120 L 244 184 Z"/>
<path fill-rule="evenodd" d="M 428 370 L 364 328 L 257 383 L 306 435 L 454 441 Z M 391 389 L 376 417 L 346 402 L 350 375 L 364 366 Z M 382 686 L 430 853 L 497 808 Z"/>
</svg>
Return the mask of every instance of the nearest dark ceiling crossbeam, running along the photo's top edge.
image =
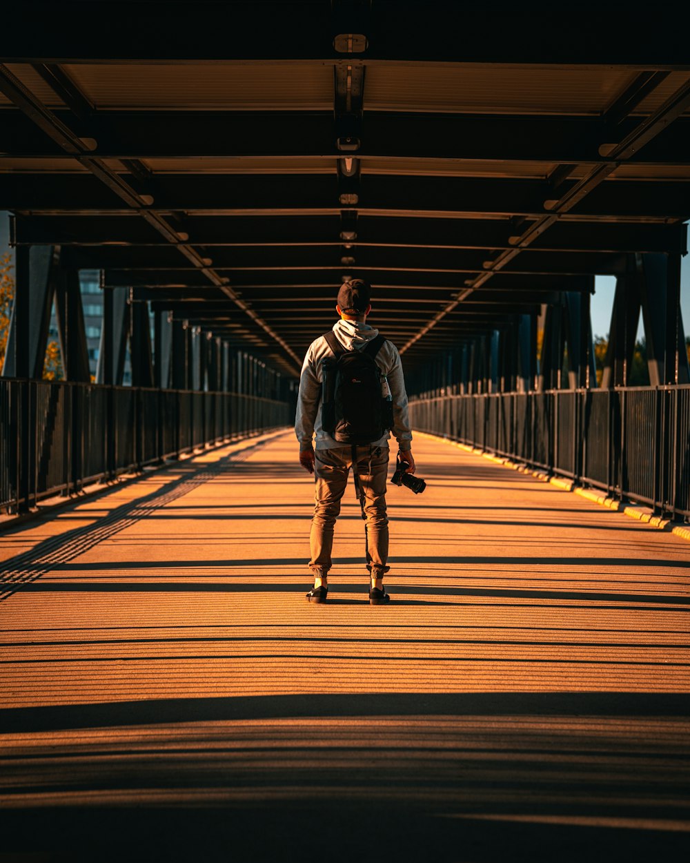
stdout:
<svg viewBox="0 0 690 863">
<path fill-rule="evenodd" d="M 155 3 L 99 3 L 108 26 L 99 34 L 97 52 L 85 39 L 83 3 L 16 3 L 4 13 L 3 24 L 13 38 L 3 45 L 6 62 L 109 61 L 210 62 L 228 58 L 228 33 L 242 34 L 233 44 L 235 62 L 276 60 L 340 60 L 333 41 L 329 3 L 254 2 L 223 4 L 198 0 L 194 14 L 175 4 L 160 14 Z M 605 14 L 605 12 L 603 13 Z M 681 15 L 679 13 L 679 15 Z M 637 15 L 616 18 L 616 39 L 605 28 L 593 27 L 592 16 L 569 16 L 563 39 L 557 15 L 525 16 L 524 9 L 449 6 L 434 2 L 420 7 L 411 0 L 379 0 L 371 9 L 373 37 L 358 54 L 368 65 L 415 60 L 442 63 L 623 64 L 650 69 L 687 68 L 684 21 L 677 26 L 645 28 Z M 137 38 L 132 38 L 136 22 Z M 413 22 L 414 39 L 410 38 Z M 491 34 L 491 39 L 479 38 Z M 458 41 L 458 34 L 465 38 Z"/>
</svg>

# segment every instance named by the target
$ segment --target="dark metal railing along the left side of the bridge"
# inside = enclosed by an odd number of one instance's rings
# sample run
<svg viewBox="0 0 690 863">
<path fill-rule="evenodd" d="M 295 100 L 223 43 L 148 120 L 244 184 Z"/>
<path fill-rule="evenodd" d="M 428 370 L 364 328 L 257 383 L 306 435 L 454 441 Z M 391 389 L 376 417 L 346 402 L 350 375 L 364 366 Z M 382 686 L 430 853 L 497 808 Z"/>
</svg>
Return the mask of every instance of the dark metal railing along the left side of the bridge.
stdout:
<svg viewBox="0 0 690 863">
<path fill-rule="evenodd" d="M 0 507 L 291 421 L 288 403 L 252 395 L 0 379 Z"/>
</svg>

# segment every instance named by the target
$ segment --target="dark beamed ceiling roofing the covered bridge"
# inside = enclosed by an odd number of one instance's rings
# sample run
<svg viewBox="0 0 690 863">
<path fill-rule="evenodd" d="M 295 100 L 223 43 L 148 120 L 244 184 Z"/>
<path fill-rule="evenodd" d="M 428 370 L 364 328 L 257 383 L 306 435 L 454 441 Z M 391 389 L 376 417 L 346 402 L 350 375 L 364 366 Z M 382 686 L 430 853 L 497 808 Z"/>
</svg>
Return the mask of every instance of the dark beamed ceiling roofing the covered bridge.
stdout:
<svg viewBox="0 0 690 863">
<path fill-rule="evenodd" d="M 690 29 L 525 9 L 16 4 L 0 208 L 289 374 L 349 275 L 427 362 L 686 249 Z"/>
</svg>

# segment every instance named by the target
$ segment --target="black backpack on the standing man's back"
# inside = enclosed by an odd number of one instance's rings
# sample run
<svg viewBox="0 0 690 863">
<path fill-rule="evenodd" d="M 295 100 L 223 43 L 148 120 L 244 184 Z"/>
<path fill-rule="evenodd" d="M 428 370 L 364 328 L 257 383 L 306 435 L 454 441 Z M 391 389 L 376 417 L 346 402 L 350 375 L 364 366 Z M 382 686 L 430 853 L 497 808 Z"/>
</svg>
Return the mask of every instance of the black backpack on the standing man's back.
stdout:
<svg viewBox="0 0 690 863">
<path fill-rule="evenodd" d="M 322 425 L 339 444 L 372 444 L 392 427 L 392 401 L 381 390 L 376 355 L 380 334 L 362 350 L 345 350 L 333 331 L 324 333 L 333 358 L 323 358 Z"/>
</svg>

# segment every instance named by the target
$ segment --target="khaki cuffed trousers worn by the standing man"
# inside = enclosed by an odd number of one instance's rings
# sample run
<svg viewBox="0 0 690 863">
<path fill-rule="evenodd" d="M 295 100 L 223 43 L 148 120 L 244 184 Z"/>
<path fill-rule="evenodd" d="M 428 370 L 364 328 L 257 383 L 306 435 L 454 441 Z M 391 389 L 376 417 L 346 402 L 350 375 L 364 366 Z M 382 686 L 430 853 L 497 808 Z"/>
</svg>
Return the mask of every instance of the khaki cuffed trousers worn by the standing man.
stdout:
<svg viewBox="0 0 690 863">
<path fill-rule="evenodd" d="M 367 565 L 377 574 L 386 570 L 388 558 L 388 519 L 386 518 L 386 478 L 388 447 L 365 444 L 354 450 L 355 463 L 365 494 L 367 516 Z M 333 529 L 340 514 L 340 501 L 353 466 L 353 448 L 316 450 L 316 506 L 311 521 L 312 569 L 328 572 L 332 565 Z"/>
</svg>

